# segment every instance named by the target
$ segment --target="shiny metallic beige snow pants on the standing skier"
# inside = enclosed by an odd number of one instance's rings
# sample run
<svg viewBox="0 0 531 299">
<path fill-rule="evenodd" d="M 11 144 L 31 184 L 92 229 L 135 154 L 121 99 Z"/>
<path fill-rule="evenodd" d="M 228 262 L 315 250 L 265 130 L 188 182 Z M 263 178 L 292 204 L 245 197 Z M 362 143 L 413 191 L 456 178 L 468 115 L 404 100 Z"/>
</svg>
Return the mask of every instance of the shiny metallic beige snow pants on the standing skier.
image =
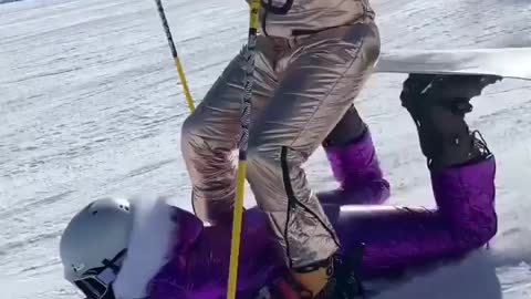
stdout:
<svg viewBox="0 0 531 299">
<path fill-rule="evenodd" d="M 337 249 L 301 165 L 352 105 L 379 55 L 372 22 L 292 39 L 259 37 L 247 179 L 290 267 Z M 232 213 L 246 50 L 226 68 L 183 126 L 181 151 L 202 220 Z"/>
</svg>

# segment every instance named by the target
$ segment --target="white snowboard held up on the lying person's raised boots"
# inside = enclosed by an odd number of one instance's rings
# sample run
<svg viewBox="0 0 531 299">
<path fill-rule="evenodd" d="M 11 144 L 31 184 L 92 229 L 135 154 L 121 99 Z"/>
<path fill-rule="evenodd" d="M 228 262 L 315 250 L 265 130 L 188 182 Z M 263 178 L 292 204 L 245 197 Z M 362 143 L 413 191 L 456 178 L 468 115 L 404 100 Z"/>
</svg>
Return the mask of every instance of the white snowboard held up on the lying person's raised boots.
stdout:
<svg viewBox="0 0 531 299">
<path fill-rule="evenodd" d="M 375 72 L 498 75 L 531 81 L 531 48 L 383 51 Z"/>
</svg>

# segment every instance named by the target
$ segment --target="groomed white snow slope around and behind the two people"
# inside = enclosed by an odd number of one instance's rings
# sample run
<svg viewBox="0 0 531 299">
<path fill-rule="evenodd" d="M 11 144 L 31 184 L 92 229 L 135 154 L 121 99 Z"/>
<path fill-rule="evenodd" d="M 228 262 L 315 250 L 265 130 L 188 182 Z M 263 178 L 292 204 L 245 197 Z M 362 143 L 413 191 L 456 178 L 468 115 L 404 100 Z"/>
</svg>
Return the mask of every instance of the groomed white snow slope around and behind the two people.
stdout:
<svg viewBox="0 0 531 299">
<path fill-rule="evenodd" d="M 531 44 L 525 0 L 373 0 L 385 48 Z M 190 89 L 207 91 L 247 37 L 241 0 L 171 0 L 168 19 Z M 398 102 L 403 75 L 378 74 L 358 107 L 371 125 L 394 204 L 433 199 L 424 158 Z M 149 0 L 28 0 L 0 6 L 1 298 L 73 298 L 58 258 L 61 229 L 94 197 L 170 193 L 189 208 L 179 155 L 187 106 Z M 498 157 L 499 234 L 491 250 L 383 298 L 531 296 L 531 84 L 507 80 L 469 121 Z M 334 186 L 319 151 L 316 189 Z M 249 195 L 249 192 L 248 192 Z M 250 198 L 250 204 L 252 200 Z"/>
</svg>

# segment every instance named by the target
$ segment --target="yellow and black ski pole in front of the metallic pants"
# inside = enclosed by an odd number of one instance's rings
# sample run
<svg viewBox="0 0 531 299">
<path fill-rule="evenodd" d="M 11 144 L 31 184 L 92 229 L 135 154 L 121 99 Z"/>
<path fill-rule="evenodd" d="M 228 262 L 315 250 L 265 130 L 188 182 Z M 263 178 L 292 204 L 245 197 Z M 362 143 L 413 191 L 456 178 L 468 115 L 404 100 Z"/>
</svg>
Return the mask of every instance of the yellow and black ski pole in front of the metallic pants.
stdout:
<svg viewBox="0 0 531 299">
<path fill-rule="evenodd" d="M 258 32 L 258 13 L 260 10 L 260 0 L 251 1 L 249 40 L 247 42 L 247 68 L 246 68 L 246 85 L 242 99 L 241 111 L 241 140 L 238 156 L 238 175 L 236 185 L 236 203 L 232 219 L 232 239 L 230 247 L 230 268 L 229 268 L 229 287 L 227 289 L 227 298 L 235 299 L 238 282 L 238 264 L 241 243 L 241 226 L 243 214 L 243 195 L 246 187 L 246 166 L 247 166 L 247 146 L 249 142 L 249 123 L 251 118 L 251 96 L 252 84 L 254 83 L 254 54 Z"/>
</svg>

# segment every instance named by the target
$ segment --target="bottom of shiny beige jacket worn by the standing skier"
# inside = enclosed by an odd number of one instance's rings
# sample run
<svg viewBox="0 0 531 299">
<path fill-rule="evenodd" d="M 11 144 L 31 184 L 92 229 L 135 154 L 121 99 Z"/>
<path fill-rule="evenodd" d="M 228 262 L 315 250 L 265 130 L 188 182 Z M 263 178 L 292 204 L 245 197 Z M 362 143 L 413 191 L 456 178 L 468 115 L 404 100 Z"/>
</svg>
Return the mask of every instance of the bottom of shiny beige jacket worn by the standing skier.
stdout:
<svg viewBox="0 0 531 299">
<path fill-rule="evenodd" d="M 260 29 L 270 37 L 290 38 L 374 16 L 368 0 L 262 0 Z"/>
</svg>

